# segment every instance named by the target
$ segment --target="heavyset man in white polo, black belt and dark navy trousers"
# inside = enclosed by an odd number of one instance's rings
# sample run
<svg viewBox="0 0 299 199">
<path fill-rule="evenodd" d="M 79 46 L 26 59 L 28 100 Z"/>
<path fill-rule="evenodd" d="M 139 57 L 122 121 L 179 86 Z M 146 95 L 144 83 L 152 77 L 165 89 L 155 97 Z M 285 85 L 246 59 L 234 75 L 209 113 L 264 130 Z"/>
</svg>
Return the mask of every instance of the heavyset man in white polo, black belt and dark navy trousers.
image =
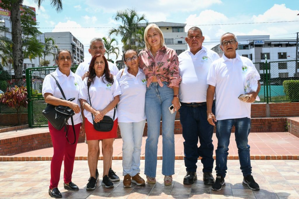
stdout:
<svg viewBox="0 0 299 199">
<path fill-rule="evenodd" d="M 181 102 L 180 121 L 184 137 L 184 162 L 187 174 L 184 184 L 193 184 L 197 180 L 196 163 L 202 157 L 203 181 L 205 185 L 214 183 L 213 171 L 213 130 L 214 126 L 207 121 L 207 75 L 210 65 L 219 55 L 202 46 L 205 37 L 199 27 L 191 27 L 187 32 L 186 42 L 190 50 L 179 55 L 179 73 L 182 77 L 179 90 Z M 213 102 L 215 113 L 215 102 Z M 200 146 L 197 146 L 197 143 Z"/>
</svg>

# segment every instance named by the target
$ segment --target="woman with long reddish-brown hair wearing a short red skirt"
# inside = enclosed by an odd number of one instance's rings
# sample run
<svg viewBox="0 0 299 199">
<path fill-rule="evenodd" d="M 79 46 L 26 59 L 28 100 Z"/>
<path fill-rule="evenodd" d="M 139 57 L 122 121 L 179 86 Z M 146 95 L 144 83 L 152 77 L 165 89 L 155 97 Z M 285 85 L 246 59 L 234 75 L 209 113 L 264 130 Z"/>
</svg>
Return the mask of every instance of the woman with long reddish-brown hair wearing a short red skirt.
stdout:
<svg viewBox="0 0 299 199">
<path fill-rule="evenodd" d="M 98 140 L 103 140 L 102 147 L 103 151 L 105 151 L 103 153 L 102 185 L 106 188 L 113 187 L 113 183 L 108 177 L 108 171 L 112 160 L 113 141 L 117 137 L 117 113 L 115 113 L 113 128 L 108 132 L 96 131 L 94 129 L 92 115 L 96 123 L 103 120 L 105 115 L 113 118 L 114 108 L 119 102 L 120 94 L 121 90 L 118 81 L 115 76 L 110 74 L 105 56 L 102 54 L 93 56 L 89 65 L 89 75 L 83 80 L 79 94 L 80 103 L 84 109 L 85 133 L 88 144 L 90 180 L 86 185 L 87 190 L 93 190 L 97 185 L 96 162 L 98 160 L 97 151 L 99 150 Z"/>
</svg>

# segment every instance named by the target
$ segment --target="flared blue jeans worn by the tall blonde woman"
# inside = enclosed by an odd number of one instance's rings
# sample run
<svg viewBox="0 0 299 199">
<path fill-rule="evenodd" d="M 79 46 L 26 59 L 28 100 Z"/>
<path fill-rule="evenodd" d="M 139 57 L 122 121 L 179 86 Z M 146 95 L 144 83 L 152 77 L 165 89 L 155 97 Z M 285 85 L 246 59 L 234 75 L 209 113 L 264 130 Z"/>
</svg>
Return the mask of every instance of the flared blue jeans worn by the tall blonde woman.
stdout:
<svg viewBox="0 0 299 199">
<path fill-rule="evenodd" d="M 157 148 L 160 135 L 160 120 L 162 116 L 162 174 L 174 174 L 174 120 L 176 112 L 171 114 L 168 107 L 173 100 L 173 89 L 163 82 L 152 82 L 145 94 L 145 114 L 147 117 L 147 140 L 145 144 L 144 174 L 156 177 Z"/>
</svg>

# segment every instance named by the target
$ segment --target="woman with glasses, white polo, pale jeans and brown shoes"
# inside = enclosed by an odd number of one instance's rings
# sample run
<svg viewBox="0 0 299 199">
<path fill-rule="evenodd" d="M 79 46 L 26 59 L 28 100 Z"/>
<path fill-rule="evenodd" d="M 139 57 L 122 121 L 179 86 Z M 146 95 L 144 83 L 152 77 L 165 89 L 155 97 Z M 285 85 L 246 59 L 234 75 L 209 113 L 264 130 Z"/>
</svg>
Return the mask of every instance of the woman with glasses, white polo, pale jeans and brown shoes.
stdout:
<svg viewBox="0 0 299 199">
<path fill-rule="evenodd" d="M 118 125 L 123 139 L 123 187 L 131 187 L 131 182 L 144 185 L 140 174 L 140 153 L 142 134 L 145 125 L 145 92 L 147 81 L 144 72 L 139 68 L 136 50 L 123 53 L 127 67 L 116 76 L 122 94 L 117 106 Z M 132 180 L 131 180 L 132 178 Z"/>
</svg>

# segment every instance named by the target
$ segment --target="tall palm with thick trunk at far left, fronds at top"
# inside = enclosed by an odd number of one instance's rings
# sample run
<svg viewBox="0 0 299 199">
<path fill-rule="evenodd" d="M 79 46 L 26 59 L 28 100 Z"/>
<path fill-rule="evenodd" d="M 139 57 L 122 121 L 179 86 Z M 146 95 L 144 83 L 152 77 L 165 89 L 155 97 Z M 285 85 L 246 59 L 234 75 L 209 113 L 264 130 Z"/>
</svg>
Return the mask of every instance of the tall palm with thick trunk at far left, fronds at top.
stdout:
<svg viewBox="0 0 299 199">
<path fill-rule="evenodd" d="M 34 0 L 40 7 L 43 0 Z M 62 0 L 50 0 L 52 7 L 57 12 L 62 10 Z M 10 10 L 11 34 L 13 41 L 13 68 L 15 77 L 22 78 L 23 49 L 22 49 L 22 27 L 20 6 L 23 0 L 1 0 L 0 7 Z"/>
</svg>

